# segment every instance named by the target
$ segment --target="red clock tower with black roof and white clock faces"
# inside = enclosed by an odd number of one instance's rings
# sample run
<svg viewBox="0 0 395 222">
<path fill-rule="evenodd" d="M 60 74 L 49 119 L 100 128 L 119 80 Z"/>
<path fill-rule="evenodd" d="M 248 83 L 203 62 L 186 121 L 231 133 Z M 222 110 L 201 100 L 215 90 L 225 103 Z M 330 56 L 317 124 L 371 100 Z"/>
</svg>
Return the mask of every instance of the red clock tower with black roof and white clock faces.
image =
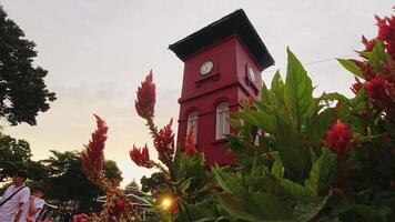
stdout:
<svg viewBox="0 0 395 222">
<path fill-rule="evenodd" d="M 183 62 L 178 144 L 183 147 L 193 127 L 194 141 L 207 165 L 229 164 L 224 134 L 227 122 L 249 97 L 257 98 L 261 72 L 274 63 L 243 10 L 190 34 L 169 47 Z"/>
</svg>

